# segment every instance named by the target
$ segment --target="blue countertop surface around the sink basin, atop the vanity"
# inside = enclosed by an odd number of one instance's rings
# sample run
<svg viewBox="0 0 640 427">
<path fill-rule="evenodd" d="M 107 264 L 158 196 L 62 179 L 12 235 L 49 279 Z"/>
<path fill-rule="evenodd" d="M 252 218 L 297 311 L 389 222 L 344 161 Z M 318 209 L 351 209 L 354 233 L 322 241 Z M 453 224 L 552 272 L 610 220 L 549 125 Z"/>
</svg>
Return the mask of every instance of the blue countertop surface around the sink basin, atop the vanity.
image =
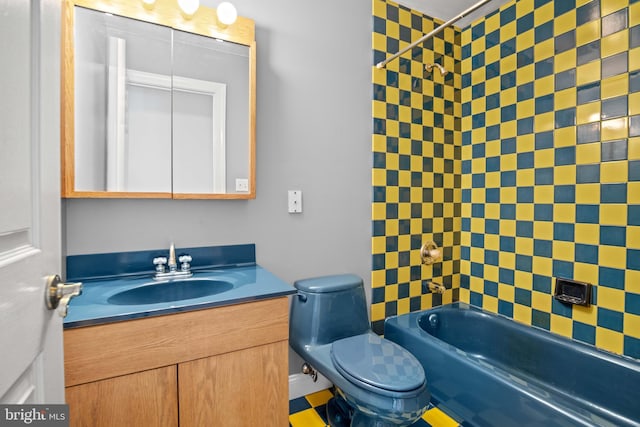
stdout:
<svg viewBox="0 0 640 427">
<path fill-rule="evenodd" d="M 180 301 L 155 304 L 118 305 L 108 302 L 120 292 L 136 287 L 162 282 L 153 280 L 152 275 L 127 276 L 85 280 L 82 295 L 73 298 L 69 304 L 64 328 L 98 325 L 123 320 L 159 316 L 182 311 L 239 304 L 261 299 L 291 295 L 295 288 L 269 273 L 258 265 L 214 268 L 194 271 L 190 279 L 214 279 L 233 285 L 229 290 L 214 295 Z"/>
</svg>

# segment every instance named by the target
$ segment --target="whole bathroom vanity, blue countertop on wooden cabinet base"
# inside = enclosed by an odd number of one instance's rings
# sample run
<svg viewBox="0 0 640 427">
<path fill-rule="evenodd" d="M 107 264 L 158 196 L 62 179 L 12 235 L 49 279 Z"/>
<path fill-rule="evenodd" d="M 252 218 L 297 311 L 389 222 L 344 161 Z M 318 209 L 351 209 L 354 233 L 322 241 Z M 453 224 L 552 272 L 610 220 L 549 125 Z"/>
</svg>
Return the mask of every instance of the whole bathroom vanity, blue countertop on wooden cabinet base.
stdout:
<svg viewBox="0 0 640 427">
<path fill-rule="evenodd" d="M 207 250 L 191 252 L 197 267 Z M 132 268 L 154 255 L 119 257 Z M 77 271 L 74 262 L 103 265 L 98 257 L 69 257 L 68 269 Z M 195 270 L 198 280 L 232 287 L 182 301 L 110 303 L 127 290 L 170 285 L 149 284 L 152 273 L 85 280 L 65 318 L 70 425 L 287 425 L 286 295 L 294 289 L 257 265 L 240 264 Z"/>
</svg>

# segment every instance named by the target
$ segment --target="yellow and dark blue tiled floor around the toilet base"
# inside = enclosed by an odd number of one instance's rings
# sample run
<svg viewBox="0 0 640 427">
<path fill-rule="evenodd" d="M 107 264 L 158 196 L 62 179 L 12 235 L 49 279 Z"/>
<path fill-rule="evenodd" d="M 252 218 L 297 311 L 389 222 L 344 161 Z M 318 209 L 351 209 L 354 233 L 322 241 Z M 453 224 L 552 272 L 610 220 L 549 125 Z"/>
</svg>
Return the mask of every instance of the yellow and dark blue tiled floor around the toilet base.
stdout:
<svg viewBox="0 0 640 427">
<path fill-rule="evenodd" d="M 290 427 L 327 427 L 326 404 L 333 396 L 323 390 L 289 401 Z M 429 409 L 413 427 L 458 427 L 458 423 L 438 408 Z"/>
</svg>

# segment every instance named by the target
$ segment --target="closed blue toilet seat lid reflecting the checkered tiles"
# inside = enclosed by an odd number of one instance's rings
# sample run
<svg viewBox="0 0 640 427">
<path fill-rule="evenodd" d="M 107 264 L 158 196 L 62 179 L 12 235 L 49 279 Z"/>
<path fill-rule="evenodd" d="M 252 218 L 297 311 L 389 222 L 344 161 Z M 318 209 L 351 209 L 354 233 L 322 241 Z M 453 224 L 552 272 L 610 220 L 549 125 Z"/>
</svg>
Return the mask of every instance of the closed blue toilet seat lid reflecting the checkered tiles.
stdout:
<svg viewBox="0 0 640 427">
<path fill-rule="evenodd" d="M 347 380 L 378 394 L 398 396 L 425 384 L 424 369 L 411 353 L 373 333 L 333 342 L 331 360 Z"/>
</svg>

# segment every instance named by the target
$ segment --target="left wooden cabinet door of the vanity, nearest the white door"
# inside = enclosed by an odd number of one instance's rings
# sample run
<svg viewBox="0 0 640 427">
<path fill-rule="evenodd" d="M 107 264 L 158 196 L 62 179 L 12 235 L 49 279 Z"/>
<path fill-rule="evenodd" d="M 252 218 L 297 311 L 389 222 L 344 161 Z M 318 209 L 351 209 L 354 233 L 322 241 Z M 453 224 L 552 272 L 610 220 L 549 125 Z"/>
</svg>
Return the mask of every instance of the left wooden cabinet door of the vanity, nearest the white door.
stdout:
<svg viewBox="0 0 640 427">
<path fill-rule="evenodd" d="M 175 365 L 67 387 L 71 427 L 177 427 Z"/>
</svg>

